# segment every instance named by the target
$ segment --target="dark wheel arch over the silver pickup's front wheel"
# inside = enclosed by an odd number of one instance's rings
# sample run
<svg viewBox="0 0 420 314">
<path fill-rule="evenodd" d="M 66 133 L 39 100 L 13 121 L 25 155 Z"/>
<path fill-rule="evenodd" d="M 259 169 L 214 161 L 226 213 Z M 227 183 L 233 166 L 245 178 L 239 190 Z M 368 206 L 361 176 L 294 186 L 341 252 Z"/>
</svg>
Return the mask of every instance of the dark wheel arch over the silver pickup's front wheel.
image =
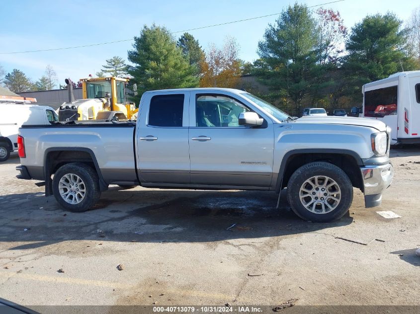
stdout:
<svg viewBox="0 0 420 314">
<path fill-rule="evenodd" d="M 276 192 L 287 186 L 291 175 L 301 166 L 314 161 L 325 161 L 339 167 L 350 179 L 353 187 L 363 192 L 363 178 L 360 167 L 363 161 L 353 150 L 349 149 L 295 149 L 287 152 L 280 164 L 276 182 Z M 343 164 L 346 163 L 346 167 Z"/>
</svg>

